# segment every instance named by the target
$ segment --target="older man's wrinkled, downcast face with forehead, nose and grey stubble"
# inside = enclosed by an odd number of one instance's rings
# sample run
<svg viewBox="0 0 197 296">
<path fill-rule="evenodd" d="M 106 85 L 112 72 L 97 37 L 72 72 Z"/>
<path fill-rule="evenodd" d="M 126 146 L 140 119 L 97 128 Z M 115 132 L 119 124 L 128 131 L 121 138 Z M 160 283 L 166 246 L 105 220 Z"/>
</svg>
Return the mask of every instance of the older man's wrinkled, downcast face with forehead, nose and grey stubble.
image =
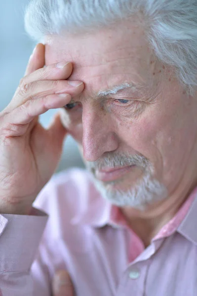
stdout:
<svg viewBox="0 0 197 296">
<path fill-rule="evenodd" d="M 75 104 L 62 110 L 62 122 L 104 191 L 134 194 L 153 181 L 162 198 L 166 189 L 172 193 L 196 156 L 197 103 L 151 53 L 143 29 L 124 21 L 113 29 L 48 37 L 45 64 L 59 61 L 72 62 L 69 80 L 85 84 Z M 127 87 L 132 83 L 141 89 Z M 106 96 L 109 89 L 114 93 Z M 148 202 L 147 191 L 140 192 L 143 200 L 134 202 L 135 196 L 122 205 Z"/>
</svg>

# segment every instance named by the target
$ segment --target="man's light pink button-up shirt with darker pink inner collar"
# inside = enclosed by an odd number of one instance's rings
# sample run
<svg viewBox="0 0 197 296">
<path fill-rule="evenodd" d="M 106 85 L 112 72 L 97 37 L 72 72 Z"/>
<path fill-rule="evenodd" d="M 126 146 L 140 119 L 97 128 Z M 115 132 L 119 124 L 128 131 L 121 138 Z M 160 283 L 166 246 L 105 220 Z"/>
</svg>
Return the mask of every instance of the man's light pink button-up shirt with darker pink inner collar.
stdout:
<svg viewBox="0 0 197 296">
<path fill-rule="evenodd" d="M 0 215 L 1 295 L 51 296 L 55 271 L 67 269 L 77 296 L 196 296 L 196 197 L 144 249 L 86 171 L 54 176 L 34 203 L 40 211 Z"/>
</svg>

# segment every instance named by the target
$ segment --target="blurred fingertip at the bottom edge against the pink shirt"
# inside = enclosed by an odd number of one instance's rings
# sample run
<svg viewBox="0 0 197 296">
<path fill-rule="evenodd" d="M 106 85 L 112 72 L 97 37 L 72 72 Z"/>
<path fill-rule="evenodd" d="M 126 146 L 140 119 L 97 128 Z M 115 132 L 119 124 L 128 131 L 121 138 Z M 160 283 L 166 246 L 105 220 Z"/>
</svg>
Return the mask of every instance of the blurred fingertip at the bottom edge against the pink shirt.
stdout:
<svg viewBox="0 0 197 296">
<path fill-rule="evenodd" d="M 75 296 L 73 283 L 67 271 L 59 270 L 54 276 L 53 296 Z"/>
</svg>

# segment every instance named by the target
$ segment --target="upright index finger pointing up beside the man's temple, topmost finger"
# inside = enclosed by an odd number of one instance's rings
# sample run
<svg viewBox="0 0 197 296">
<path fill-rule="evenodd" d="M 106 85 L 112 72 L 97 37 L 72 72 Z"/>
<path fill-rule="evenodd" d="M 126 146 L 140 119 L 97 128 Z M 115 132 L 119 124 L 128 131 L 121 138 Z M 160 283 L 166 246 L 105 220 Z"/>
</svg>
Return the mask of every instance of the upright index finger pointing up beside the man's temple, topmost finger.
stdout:
<svg viewBox="0 0 197 296">
<path fill-rule="evenodd" d="M 31 74 L 36 70 L 43 68 L 44 64 L 45 64 L 45 46 L 42 43 L 39 43 L 35 47 L 29 59 L 25 75 Z"/>
</svg>

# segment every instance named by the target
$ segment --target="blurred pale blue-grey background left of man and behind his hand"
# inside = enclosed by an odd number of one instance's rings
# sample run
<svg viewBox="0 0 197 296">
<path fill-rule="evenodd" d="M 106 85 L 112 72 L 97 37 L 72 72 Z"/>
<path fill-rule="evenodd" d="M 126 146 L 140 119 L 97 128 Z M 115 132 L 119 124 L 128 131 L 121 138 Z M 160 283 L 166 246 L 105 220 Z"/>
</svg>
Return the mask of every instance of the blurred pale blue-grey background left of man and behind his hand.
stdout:
<svg viewBox="0 0 197 296">
<path fill-rule="evenodd" d="M 24 30 L 24 7 L 28 2 L 29 0 L 0 2 L 0 111 L 12 99 L 36 45 Z M 50 110 L 40 116 L 40 122 L 44 127 L 57 111 Z M 72 166 L 83 167 L 83 163 L 75 141 L 69 136 L 65 141 L 57 171 Z"/>
</svg>

